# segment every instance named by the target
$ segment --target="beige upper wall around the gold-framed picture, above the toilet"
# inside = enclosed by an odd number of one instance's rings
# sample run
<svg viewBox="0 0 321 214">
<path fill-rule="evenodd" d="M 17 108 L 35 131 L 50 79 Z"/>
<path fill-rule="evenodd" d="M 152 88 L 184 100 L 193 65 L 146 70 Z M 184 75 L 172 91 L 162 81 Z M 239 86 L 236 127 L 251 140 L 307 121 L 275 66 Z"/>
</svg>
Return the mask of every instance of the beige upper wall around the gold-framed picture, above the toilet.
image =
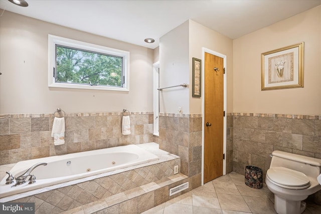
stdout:
<svg viewBox="0 0 321 214">
<path fill-rule="evenodd" d="M 233 41 L 233 112 L 321 114 L 321 6 Z M 261 53 L 304 42 L 304 88 L 261 91 Z"/>
</svg>

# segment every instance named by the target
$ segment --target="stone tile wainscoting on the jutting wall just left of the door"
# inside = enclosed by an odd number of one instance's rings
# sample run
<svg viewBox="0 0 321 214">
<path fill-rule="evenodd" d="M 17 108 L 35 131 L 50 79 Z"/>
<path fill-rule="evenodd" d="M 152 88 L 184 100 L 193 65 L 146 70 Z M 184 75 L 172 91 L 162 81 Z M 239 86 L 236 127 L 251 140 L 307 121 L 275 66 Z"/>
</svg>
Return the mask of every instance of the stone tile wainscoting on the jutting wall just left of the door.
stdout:
<svg viewBox="0 0 321 214">
<path fill-rule="evenodd" d="M 159 149 L 181 157 L 181 172 L 202 172 L 202 114 L 159 114 Z"/>
</svg>

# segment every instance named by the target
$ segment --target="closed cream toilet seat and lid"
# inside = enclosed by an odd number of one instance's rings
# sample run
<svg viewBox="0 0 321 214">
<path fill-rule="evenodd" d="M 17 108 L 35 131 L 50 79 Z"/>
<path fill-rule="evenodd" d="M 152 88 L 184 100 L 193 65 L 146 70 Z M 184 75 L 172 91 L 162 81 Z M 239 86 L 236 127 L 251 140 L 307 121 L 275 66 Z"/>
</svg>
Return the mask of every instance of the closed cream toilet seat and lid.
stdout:
<svg viewBox="0 0 321 214">
<path fill-rule="evenodd" d="M 305 189 L 311 185 L 304 173 L 285 167 L 269 168 L 266 175 L 272 183 L 287 189 Z"/>
</svg>

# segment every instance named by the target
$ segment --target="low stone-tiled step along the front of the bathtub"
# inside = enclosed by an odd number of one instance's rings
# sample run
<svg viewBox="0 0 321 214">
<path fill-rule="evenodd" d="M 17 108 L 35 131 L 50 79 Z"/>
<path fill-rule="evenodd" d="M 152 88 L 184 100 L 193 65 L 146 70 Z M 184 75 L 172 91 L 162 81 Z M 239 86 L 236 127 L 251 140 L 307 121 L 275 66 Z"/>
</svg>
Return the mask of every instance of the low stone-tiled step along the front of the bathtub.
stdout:
<svg viewBox="0 0 321 214">
<path fill-rule="evenodd" d="M 159 204 L 165 203 L 166 201 L 176 197 L 180 197 L 180 195 L 184 195 L 192 189 L 199 187 L 199 181 L 195 178 L 196 176 L 187 177 L 183 174 L 176 174 L 159 180 L 157 183 L 151 183 L 149 188 L 145 188 L 144 186 L 137 187 L 135 188 L 135 194 L 131 191 L 125 191 L 124 193 L 118 193 L 114 196 L 106 197 L 104 200 L 99 200 L 99 203 L 91 202 L 81 207 L 64 211 L 62 214 L 142 213 L 152 207 L 157 207 Z M 185 182 L 189 182 L 188 189 L 169 196 L 170 188 Z M 183 212 L 180 210 L 176 213 Z"/>
</svg>

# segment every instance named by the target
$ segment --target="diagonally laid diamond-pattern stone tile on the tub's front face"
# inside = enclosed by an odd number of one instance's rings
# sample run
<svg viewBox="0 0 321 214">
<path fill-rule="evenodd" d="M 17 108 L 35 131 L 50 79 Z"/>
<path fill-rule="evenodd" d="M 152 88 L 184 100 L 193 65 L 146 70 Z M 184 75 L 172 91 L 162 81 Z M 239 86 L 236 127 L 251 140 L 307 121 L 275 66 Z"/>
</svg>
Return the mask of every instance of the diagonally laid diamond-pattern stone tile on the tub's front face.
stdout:
<svg viewBox="0 0 321 214">
<path fill-rule="evenodd" d="M 36 213 L 59 213 L 122 192 L 132 192 L 132 189 L 149 183 L 157 182 L 162 185 L 162 182 L 164 180 L 168 180 L 168 177 L 175 176 L 174 166 L 180 165 L 180 162 L 180 158 L 177 158 L 45 191 L 24 198 L 19 198 L 12 202 L 35 202 Z M 161 191 L 164 191 L 164 189 L 161 189 Z M 164 199 L 161 198 L 160 200 L 163 201 Z M 148 206 L 148 208 L 151 207 Z"/>
</svg>

